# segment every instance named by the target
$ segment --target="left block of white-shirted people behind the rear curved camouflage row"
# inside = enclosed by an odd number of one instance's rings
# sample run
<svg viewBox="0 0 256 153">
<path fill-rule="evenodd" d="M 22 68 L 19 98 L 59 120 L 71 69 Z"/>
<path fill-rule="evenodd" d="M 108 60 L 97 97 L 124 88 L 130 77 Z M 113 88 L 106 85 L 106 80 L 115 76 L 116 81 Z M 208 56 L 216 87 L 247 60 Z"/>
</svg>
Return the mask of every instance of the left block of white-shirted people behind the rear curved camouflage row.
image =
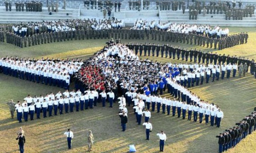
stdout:
<svg viewBox="0 0 256 153">
<path fill-rule="evenodd" d="M 22 37 L 33 35 L 34 33 L 75 31 L 79 29 L 110 29 L 123 28 L 124 22 L 118 19 L 67 19 L 58 21 L 29 22 L 24 24 L 3 25 L 2 29 L 13 32 Z"/>
</svg>

